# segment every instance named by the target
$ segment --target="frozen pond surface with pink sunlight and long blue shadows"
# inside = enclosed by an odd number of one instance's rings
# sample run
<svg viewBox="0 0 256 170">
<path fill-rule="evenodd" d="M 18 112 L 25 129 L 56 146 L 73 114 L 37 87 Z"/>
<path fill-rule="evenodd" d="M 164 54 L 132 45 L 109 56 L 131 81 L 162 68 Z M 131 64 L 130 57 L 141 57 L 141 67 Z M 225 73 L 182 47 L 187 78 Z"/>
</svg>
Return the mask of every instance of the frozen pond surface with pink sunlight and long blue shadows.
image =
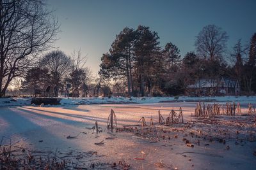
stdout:
<svg viewBox="0 0 256 170">
<path fill-rule="evenodd" d="M 158 120 L 158 110 L 166 118 L 170 110 L 179 111 L 182 107 L 184 120 L 191 119 L 196 103 L 156 103 L 156 104 L 102 104 L 60 107 L 3 107 L 0 108 L 0 136 L 12 139 L 13 143 L 34 150 L 56 150 L 61 153 L 77 150 L 79 152 L 97 152 L 97 156 L 88 158 L 88 162 L 118 162 L 125 160 L 132 169 L 156 169 L 156 162 L 164 162 L 166 169 L 253 169 L 256 167 L 256 142 L 235 145 L 227 141 L 230 150 L 222 143 L 210 146 L 187 147 L 182 142 L 184 136 L 157 143 L 134 136 L 131 133 L 118 132 L 115 136 L 108 132 L 107 121 L 110 110 L 115 111 L 119 127 L 138 124 L 145 117 L 149 124 L 152 117 Z M 242 105 L 246 111 L 247 105 Z M 92 127 L 95 121 L 103 132 L 97 134 Z M 77 136 L 78 135 L 78 136 Z M 67 139 L 67 136 L 77 136 Z M 115 138 L 107 140 L 106 138 Z M 95 145 L 104 140 L 104 145 Z M 6 140 L 5 142 L 7 142 Z M 40 141 L 40 142 L 39 142 Z M 186 152 L 186 154 L 182 154 Z M 136 159 L 140 158 L 140 159 Z"/>
</svg>

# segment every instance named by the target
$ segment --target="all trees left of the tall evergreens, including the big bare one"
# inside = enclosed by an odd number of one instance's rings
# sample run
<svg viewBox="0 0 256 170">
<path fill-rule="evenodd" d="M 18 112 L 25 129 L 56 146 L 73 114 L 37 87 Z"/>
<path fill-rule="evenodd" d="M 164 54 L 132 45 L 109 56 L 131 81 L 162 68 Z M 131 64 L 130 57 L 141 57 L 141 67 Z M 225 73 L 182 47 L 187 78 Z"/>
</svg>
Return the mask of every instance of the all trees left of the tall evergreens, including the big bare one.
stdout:
<svg viewBox="0 0 256 170">
<path fill-rule="evenodd" d="M 6 97 L 10 87 L 29 96 L 49 87 L 48 95 L 58 96 L 67 84 L 72 97 L 109 94 L 104 81 L 85 66 L 80 51 L 67 55 L 52 50 L 59 31 L 45 1 L 0 0 L 0 97 Z"/>
</svg>

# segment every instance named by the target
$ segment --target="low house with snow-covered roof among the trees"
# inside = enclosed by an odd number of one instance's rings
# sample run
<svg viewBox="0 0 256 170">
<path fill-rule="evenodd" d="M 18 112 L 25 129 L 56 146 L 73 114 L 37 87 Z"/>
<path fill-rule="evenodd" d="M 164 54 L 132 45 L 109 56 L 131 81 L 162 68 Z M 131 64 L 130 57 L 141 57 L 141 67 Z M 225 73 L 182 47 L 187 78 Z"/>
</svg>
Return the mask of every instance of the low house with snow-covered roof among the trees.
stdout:
<svg viewBox="0 0 256 170">
<path fill-rule="evenodd" d="M 200 79 L 188 86 L 189 94 L 195 96 L 239 95 L 240 85 L 237 80 L 221 77 L 219 80 Z"/>
</svg>

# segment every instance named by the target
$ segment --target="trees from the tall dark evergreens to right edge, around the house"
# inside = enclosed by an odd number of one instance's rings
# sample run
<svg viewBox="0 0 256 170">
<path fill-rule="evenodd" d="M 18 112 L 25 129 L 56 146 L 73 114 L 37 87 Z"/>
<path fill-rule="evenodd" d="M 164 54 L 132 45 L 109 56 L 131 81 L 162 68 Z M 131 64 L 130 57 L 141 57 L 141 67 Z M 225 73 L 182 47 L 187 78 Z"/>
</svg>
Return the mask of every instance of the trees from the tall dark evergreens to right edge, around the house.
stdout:
<svg viewBox="0 0 256 170">
<path fill-rule="evenodd" d="M 204 78 L 237 79 L 244 94 L 256 91 L 256 33 L 250 46 L 241 39 L 227 52 L 227 32 L 206 25 L 196 36 L 195 51 L 180 55 L 172 42 L 160 46 L 157 32 L 139 25 L 125 27 L 101 57 L 99 75 L 106 81 L 122 81 L 127 96 L 188 94 L 188 85 Z M 212 94 L 214 95 L 214 94 Z"/>
</svg>

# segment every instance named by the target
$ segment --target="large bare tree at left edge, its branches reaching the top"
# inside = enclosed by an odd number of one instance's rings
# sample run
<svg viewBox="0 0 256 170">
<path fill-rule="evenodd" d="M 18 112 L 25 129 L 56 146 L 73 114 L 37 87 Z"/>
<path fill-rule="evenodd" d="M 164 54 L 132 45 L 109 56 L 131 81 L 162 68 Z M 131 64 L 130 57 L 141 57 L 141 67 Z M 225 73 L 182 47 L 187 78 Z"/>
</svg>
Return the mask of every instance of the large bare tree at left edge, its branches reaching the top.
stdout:
<svg viewBox="0 0 256 170">
<path fill-rule="evenodd" d="M 15 77 L 49 49 L 58 22 L 40 0 L 0 0 L 0 97 Z"/>
</svg>

